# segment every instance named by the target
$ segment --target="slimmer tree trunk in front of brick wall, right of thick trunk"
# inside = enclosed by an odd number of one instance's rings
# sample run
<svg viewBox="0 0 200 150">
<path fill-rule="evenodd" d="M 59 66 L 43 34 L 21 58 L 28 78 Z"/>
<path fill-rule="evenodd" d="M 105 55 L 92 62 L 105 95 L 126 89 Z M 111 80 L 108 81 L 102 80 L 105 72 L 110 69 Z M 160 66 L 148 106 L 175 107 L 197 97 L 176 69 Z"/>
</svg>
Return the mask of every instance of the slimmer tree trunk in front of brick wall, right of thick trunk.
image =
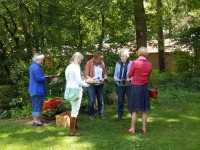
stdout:
<svg viewBox="0 0 200 150">
<path fill-rule="evenodd" d="M 159 70 L 165 72 L 165 46 L 163 37 L 162 0 L 157 0 Z"/>
</svg>

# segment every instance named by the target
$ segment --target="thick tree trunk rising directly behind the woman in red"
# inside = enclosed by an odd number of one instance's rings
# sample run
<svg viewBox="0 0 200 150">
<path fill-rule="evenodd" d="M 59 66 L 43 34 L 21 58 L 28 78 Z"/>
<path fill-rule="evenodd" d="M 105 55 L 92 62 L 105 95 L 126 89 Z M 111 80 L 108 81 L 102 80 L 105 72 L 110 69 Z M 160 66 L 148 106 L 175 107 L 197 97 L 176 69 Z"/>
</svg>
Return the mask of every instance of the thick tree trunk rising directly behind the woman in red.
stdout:
<svg viewBox="0 0 200 150">
<path fill-rule="evenodd" d="M 137 49 L 141 46 L 147 47 L 147 26 L 143 0 L 133 0 L 135 27 L 136 27 L 136 45 Z"/>
</svg>

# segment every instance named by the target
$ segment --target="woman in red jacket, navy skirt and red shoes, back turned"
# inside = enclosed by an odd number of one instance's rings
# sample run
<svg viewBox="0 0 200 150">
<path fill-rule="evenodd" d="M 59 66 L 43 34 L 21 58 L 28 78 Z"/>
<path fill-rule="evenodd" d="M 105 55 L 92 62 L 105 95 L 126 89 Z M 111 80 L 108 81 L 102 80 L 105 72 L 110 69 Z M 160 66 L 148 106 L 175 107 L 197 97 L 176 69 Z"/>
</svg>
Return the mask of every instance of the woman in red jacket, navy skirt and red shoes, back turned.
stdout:
<svg viewBox="0 0 200 150">
<path fill-rule="evenodd" d="M 130 134 L 136 133 L 136 122 L 138 112 L 142 113 L 141 132 L 147 132 L 147 111 L 150 110 L 150 97 L 148 90 L 148 80 L 152 71 L 152 64 L 147 60 L 148 51 L 145 47 L 138 50 L 138 58 L 132 62 L 128 77 L 132 80 L 132 97 L 128 101 L 128 110 L 132 114 L 131 127 L 128 130 Z"/>
</svg>

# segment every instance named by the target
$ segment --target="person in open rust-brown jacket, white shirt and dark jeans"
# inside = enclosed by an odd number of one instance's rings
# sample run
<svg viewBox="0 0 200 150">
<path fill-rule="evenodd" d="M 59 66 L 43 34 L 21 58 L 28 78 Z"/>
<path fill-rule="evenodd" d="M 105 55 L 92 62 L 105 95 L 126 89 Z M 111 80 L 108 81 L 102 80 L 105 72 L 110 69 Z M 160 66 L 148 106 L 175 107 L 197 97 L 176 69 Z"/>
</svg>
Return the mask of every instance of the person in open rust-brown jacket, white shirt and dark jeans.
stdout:
<svg viewBox="0 0 200 150">
<path fill-rule="evenodd" d="M 107 80 L 106 68 L 103 62 L 103 54 L 101 52 L 95 52 L 92 59 L 88 60 L 85 66 L 86 79 L 97 78 L 99 81 Z M 89 119 L 94 120 L 94 103 L 95 96 L 98 101 L 98 113 L 101 119 L 105 119 L 104 116 L 104 100 L 103 100 L 103 84 L 90 85 L 87 88 L 88 91 L 88 112 Z"/>
</svg>

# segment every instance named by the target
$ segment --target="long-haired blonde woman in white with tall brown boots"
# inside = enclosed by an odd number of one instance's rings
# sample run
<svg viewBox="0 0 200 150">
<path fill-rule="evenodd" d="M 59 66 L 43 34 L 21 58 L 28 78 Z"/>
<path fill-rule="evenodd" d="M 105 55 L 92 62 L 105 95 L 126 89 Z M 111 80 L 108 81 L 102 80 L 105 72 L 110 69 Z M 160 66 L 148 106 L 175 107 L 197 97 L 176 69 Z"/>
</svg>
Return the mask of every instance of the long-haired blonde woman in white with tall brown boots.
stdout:
<svg viewBox="0 0 200 150">
<path fill-rule="evenodd" d="M 79 113 L 81 99 L 82 99 L 82 86 L 89 86 L 86 80 L 82 80 L 82 72 L 80 69 L 81 61 L 83 60 L 83 55 L 80 52 L 74 53 L 70 59 L 70 64 L 65 70 L 66 78 L 66 89 L 67 88 L 80 88 L 79 99 L 77 101 L 70 101 L 71 104 L 71 116 L 70 116 L 70 131 L 69 135 L 79 136 L 80 133 L 77 132 L 77 116 Z M 87 80 L 89 81 L 89 80 Z"/>
</svg>

